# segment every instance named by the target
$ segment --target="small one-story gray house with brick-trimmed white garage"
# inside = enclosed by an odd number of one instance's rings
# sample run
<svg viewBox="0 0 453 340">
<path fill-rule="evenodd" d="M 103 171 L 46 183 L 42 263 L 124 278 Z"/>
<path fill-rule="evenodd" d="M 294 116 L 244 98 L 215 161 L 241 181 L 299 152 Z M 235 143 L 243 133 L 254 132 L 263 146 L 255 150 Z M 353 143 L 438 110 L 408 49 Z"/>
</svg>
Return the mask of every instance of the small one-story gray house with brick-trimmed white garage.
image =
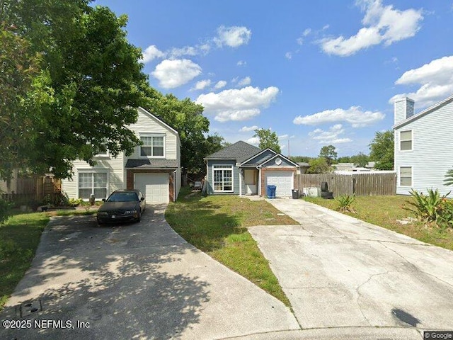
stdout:
<svg viewBox="0 0 453 340">
<path fill-rule="evenodd" d="M 246 142 L 205 157 L 207 193 L 211 195 L 266 195 L 268 185 L 275 195 L 291 196 L 294 175 L 300 166 L 273 149 L 260 149 Z"/>
</svg>

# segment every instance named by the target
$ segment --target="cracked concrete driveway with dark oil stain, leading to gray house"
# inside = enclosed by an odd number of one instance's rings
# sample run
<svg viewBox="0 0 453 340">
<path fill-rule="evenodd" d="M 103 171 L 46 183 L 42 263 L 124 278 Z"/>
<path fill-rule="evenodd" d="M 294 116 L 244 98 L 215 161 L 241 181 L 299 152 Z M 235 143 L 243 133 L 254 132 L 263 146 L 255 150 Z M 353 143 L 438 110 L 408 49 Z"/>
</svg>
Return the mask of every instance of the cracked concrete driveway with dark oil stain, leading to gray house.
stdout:
<svg viewBox="0 0 453 340">
<path fill-rule="evenodd" d="M 338 339 L 453 330 L 452 251 L 304 200 L 268 201 L 300 225 L 249 231 L 303 329 Z"/>
</svg>

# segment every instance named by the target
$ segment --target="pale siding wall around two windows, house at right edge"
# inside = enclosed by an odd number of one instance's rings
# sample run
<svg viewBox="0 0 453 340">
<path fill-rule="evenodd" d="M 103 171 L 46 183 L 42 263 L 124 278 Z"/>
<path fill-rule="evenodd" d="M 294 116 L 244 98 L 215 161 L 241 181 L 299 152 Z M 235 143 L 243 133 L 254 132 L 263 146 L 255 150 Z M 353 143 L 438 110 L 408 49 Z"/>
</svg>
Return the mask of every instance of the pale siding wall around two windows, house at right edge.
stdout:
<svg viewBox="0 0 453 340">
<path fill-rule="evenodd" d="M 401 186 L 398 179 L 396 193 L 409 195 L 411 189 L 427 193 L 427 189 L 439 189 L 442 195 L 452 190 L 445 186 L 445 174 L 453 165 L 453 102 L 437 108 L 395 131 L 395 167 L 399 174 L 401 166 L 412 167 L 411 186 Z M 412 131 L 411 152 L 399 151 L 400 132 Z"/>
</svg>

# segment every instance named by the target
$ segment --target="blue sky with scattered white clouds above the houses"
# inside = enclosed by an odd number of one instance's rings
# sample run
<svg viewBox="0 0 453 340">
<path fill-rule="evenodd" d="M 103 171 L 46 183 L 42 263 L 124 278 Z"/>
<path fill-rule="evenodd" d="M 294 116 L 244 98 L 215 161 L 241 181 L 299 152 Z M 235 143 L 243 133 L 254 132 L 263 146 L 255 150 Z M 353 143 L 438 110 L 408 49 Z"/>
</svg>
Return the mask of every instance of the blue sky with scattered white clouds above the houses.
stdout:
<svg viewBox="0 0 453 340">
<path fill-rule="evenodd" d="M 228 142 L 271 128 L 283 154 L 368 154 L 394 98 L 417 113 L 453 94 L 452 0 L 94 4 L 127 14 L 151 86 L 201 103 Z"/>
</svg>

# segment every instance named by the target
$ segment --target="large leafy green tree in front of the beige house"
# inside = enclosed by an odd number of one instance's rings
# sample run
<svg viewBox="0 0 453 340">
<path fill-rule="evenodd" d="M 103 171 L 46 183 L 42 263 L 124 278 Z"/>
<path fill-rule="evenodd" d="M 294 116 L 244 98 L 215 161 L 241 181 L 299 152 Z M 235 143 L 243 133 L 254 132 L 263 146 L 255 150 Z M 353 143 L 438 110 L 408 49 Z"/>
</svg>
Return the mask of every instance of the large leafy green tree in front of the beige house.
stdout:
<svg viewBox="0 0 453 340">
<path fill-rule="evenodd" d="M 33 115 L 33 137 L 18 142 L 17 152 L 28 169 L 51 168 L 61 178 L 71 176 L 75 159 L 93 164 L 105 148 L 115 157 L 139 143 L 127 125 L 143 102 L 141 51 L 127 42 L 125 16 L 88 2 L 5 0 L 0 6 L 4 26 L 15 27 L 30 55 L 41 56 L 34 92 L 21 98 L 33 107 L 24 111 Z"/>
</svg>

